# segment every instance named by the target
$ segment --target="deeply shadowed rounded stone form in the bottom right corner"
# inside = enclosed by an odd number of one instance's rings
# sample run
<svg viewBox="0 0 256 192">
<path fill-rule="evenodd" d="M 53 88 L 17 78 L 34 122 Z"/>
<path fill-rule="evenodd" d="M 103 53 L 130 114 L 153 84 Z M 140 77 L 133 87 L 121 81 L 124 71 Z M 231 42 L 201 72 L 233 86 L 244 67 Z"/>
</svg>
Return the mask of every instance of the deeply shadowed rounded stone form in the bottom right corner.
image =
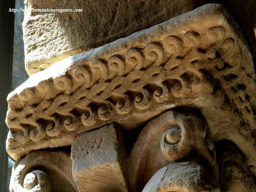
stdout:
<svg viewBox="0 0 256 192">
<path fill-rule="evenodd" d="M 253 192 L 252 173 L 241 151 L 231 142 L 217 144 L 219 181 L 225 192 Z"/>
</svg>

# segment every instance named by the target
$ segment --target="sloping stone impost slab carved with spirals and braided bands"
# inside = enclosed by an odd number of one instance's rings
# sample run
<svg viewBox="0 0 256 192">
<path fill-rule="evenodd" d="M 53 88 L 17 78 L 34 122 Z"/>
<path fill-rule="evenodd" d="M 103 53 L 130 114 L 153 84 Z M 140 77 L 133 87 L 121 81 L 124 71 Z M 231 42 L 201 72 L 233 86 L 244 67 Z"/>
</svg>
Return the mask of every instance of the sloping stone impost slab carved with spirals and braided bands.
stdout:
<svg viewBox="0 0 256 192">
<path fill-rule="evenodd" d="M 128 130 L 178 106 L 201 111 L 256 173 L 255 71 L 236 23 L 208 4 L 31 76 L 8 96 L 7 151 L 71 146 L 111 123 Z M 244 145 L 246 143 L 246 145 Z"/>
</svg>

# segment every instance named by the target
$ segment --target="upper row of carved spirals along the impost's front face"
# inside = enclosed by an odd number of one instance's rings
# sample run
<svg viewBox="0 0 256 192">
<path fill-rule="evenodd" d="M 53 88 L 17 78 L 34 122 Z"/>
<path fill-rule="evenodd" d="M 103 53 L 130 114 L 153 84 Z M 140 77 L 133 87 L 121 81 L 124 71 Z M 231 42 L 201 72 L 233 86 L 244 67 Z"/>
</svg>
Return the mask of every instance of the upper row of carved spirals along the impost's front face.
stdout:
<svg viewBox="0 0 256 192">
<path fill-rule="evenodd" d="M 225 38 L 226 31 L 222 26 L 215 26 L 209 28 L 206 35 L 210 41 L 218 41 Z M 110 70 L 116 72 L 118 75 L 124 75 L 131 70 L 147 68 L 151 64 L 159 66 L 162 64 L 165 54 L 167 56 L 179 56 L 184 44 L 193 47 L 198 45 L 201 40 L 201 35 L 195 31 L 187 31 L 183 36 L 183 40 L 176 35 L 168 36 L 162 42 L 151 42 L 143 49 L 129 49 L 124 56 L 116 54 L 109 57 L 107 61 L 102 59 L 93 60 L 90 62 L 90 69 L 87 67 L 78 67 L 74 69 L 73 76 L 76 81 L 90 85 L 92 73 L 94 75 L 100 75 L 102 80 L 107 80 Z M 145 62 L 146 59 L 149 62 Z M 127 71 L 127 69 L 130 70 Z M 70 89 L 71 80 L 67 76 L 60 76 L 54 79 L 54 84 L 59 89 L 68 89 L 68 87 Z"/>
</svg>

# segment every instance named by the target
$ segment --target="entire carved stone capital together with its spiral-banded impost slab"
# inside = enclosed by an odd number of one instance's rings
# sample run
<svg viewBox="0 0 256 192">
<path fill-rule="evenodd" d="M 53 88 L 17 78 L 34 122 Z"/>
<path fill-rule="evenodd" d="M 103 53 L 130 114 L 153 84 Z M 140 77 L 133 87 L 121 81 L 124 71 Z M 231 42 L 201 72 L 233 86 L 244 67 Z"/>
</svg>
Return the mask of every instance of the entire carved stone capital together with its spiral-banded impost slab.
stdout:
<svg viewBox="0 0 256 192">
<path fill-rule="evenodd" d="M 217 161 L 215 143 L 229 140 L 249 192 L 255 81 L 240 29 L 217 4 L 55 63 L 8 96 L 7 151 L 27 155 L 11 190 L 58 191 L 61 173 L 71 191 L 220 192 L 235 179 L 224 179 L 229 157 Z M 65 160 L 30 153 L 64 146 Z"/>
</svg>

